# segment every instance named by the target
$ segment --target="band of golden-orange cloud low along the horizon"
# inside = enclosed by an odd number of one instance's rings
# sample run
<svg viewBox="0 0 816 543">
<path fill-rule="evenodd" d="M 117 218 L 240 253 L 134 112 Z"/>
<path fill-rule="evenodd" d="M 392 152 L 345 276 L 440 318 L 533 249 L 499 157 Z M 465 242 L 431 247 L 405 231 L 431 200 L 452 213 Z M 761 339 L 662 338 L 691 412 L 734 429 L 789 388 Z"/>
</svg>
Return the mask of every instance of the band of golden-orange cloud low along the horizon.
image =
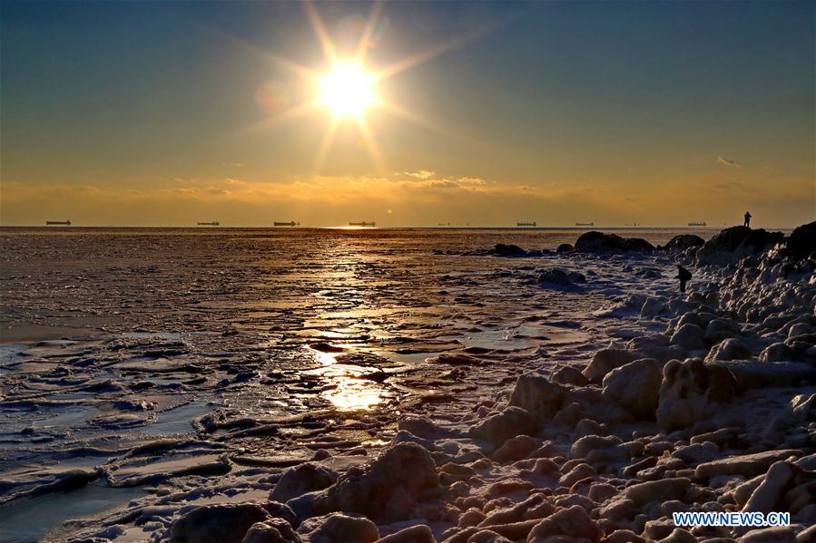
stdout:
<svg viewBox="0 0 816 543">
<path fill-rule="evenodd" d="M 521 218 L 541 225 L 576 220 L 682 225 L 693 218 L 732 221 L 751 208 L 768 224 L 795 226 L 812 216 L 814 202 L 812 179 L 772 176 L 780 189 L 769 194 L 769 174 L 751 170 L 739 179 L 710 171 L 634 185 L 549 179 L 506 183 L 431 175 L 431 170 L 413 173 L 421 175 L 176 179 L 124 187 L 4 180 L 0 216 L 6 225 L 42 224 L 52 216 L 86 225 L 190 226 L 203 218 L 231 226 L 264 226 L 278 219 L 335 226 L 362 218 L 384 226 L 512 225 Z"/>
</svg>

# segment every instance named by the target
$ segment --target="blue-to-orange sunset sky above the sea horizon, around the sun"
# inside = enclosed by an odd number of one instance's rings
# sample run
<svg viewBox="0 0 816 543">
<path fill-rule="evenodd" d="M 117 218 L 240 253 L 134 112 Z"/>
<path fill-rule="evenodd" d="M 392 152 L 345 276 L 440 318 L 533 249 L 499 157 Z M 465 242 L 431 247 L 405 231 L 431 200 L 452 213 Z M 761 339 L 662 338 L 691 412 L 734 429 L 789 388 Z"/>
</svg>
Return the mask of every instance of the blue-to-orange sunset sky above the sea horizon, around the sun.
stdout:
<svg viewBox="0 0 816 543">
<path fill-rule="evenodd" d="M 814 9 L 3 2 L 0 225 L 794 227 Z M 376 76 L 359 116 L 327 51 Z"/>
</svg>

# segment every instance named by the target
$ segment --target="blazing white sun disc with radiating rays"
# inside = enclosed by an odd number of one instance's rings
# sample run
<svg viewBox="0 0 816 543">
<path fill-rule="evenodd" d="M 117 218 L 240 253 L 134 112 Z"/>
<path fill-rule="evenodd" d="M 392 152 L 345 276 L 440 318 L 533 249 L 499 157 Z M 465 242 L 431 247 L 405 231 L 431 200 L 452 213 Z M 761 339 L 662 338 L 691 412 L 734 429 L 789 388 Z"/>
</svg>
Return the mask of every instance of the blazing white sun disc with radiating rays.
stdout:
<svg viewBox="0 0 816 543">
<path fill-rule="evenodd" d="M 336 63 L 318 80 L 320 104 L 336 117 L 359 118 L 377 102 L 375 80 L 373 75 L 363 72 L 359 64 Z"/>
</svg>

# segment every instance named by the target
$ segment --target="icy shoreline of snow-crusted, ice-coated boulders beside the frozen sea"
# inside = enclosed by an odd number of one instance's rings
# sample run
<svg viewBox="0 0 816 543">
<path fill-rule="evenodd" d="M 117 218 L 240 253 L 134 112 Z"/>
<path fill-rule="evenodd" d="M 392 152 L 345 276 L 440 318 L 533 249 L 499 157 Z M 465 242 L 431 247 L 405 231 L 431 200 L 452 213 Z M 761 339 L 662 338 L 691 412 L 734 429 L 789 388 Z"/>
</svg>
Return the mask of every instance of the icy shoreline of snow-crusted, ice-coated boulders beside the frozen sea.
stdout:
<svg viewBox="0 0 816 543">
<path fill-rule="evenodd" d="M 202 414 L 194 437 L 97 451 L 113 461 L 16 479 L 6 472 L 3 499 L 94 480 L 150 492 L 57 528 L 52 540 L 810 540 L 812 530 L 802 530 L 816 520 L 813 266 L 799 253 L 773 252 L 770 242 L 721 241 L 646 256 L 511 250 L 498 256 L 530 264 L 489 280 L 512 277 L 565 298 L 566 306 L 550 307 L 548 315 L 527 309 L 519 316 L 519 328 L 547 323 L 522 334 L 539 344 L 535 354 L 440 347 L 426 367 L 399 378 L 403 369 L 388 361 L 340 358 L 359 368 L 363 380 L 397 381 L 398 390 L 410 393 L 391 410 Z M 697 265 L 687 296 L 669 275 L 673 258 Z M 638 292 L 615 284 L 624 276 L 634 277 Z M 598 292 L 617 302 L 593 312 L 568 307 Z M 582 330 L 595 339 L 587 341 Z M 599 334 L 609 339 L 599 341 Z M 172 358 L 173 348 L 182 348 L 176 341 L 166 338 L 154 360 Z M 306 347 L 331 364 L 352 351 L 325 341 Z M 133 338 L 119 348 L 141 347 Z M 110 362 L 153 377 L 168 368 L 166 360 Z M 189 369 L 177 363 L 171 369 Z M 62 388 L 50 401 L 75 402 L 70 393 L 82 391 L 115 396 L 115 382 L 68 377 L 54 376 L 63 379 Z M 280 382 L 285 375 L 268 377 Z M 240 393 L 252 378 L 231 373 L 222 385 Z M 440 382 L 434 390 L 430 379 Z M 179 390 L 200 384 L 188 380 Z M 423 386 L 428 390 L 411 390 Z M 25 407 L 44 400 L 27 394 L 6 393 L 3 402 Z M 118 428 L 162 414 L 138 402 L 113 410 L 103 403 L 99 411 L 101 426 Z M 264 451 L 265 443 L 277 443 L 277 451 Z M 195 509 L 200 506 L 209 509 Z M 728 528 L 674 531 L 677 510 L 791 510 L 794 526 L 747 535 Z"/>
</svg>

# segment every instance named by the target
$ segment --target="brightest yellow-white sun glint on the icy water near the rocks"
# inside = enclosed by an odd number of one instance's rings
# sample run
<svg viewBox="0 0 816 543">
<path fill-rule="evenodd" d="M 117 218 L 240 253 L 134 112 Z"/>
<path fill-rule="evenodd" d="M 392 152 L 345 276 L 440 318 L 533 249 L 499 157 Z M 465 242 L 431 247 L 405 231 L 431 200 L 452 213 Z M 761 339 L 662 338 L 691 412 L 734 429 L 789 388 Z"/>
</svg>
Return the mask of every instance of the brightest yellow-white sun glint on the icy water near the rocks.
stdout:
<svg viewBox="0 0 816 543">
<path fill-rule="evenodd" d="M 331 388 L 320 395 L 332 405 L 343 411 L 371 409 L 382 402 L 382 389 L 377 383 L 361 379 L 366 373 L 364 368 L 353 364 L 338 364 L 339 353 L 323 353 L 310 349 L 319 368 L 310 370 L 310 375 L 320 375 L 329 381 Z"/>
</svg>

